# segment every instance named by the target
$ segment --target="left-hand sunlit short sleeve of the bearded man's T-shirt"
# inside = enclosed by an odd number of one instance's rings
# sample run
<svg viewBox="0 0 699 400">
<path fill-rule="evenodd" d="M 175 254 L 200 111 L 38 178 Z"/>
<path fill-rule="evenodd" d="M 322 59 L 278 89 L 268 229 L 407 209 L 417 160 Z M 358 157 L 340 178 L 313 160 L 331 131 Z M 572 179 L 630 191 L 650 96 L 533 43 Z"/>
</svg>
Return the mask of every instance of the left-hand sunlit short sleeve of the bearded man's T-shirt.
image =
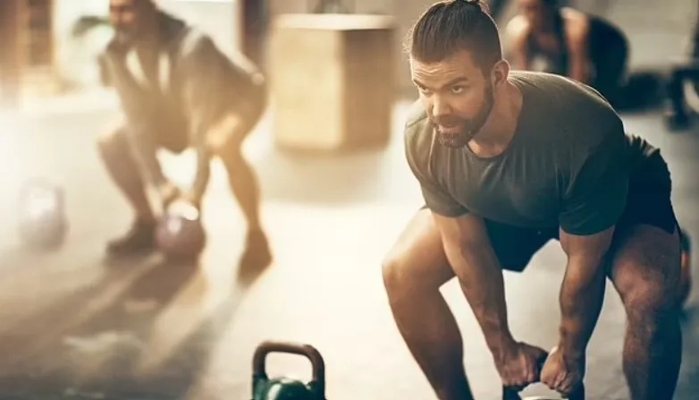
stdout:
<svg viewBox="0 0 699 400">
<path fill-rule="evenodd" d="M 426 138 L 417 139 L 416 135 L 424 132 L 408 132 L 411 126 L 406 126 L 406 157 L 408 166 L 420 183 L 425 205 L 434 213 L 444 217 L 460 217 L 468 211 L 448 191 L 434 179 L 430 171 L 431 164 L 431 143 L 432 140 Z"/>
</svg>

